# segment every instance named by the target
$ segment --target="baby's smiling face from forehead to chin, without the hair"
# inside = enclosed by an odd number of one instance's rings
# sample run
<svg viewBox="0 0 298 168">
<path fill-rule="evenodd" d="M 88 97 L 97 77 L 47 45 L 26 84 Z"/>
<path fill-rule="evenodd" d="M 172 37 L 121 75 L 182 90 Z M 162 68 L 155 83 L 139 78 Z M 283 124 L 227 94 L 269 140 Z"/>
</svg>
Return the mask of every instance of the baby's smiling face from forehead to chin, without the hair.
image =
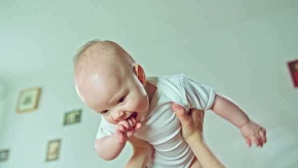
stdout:
<svg viewBox="0 0 298 168">
<path fill-rule="evenodd" d="M 81 100 L 111 124 L 131 115 L 143 122 L 148 115 L 149 98 L 135 74 L 89 73 L 76 78 L 75 85 Z"/>
</svg>

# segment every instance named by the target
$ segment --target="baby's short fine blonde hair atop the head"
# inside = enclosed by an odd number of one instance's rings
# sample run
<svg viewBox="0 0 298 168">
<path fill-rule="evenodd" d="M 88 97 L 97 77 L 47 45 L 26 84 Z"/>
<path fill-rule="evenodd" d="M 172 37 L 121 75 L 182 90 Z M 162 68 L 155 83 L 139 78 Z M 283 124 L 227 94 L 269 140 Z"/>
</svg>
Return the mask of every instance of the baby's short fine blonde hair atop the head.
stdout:
<svg viewBox="0 0 298 168">
<path fill-rule="evenodd" d="M 129 72 L 131 72 L 133 66 L 136 64 L 135 60 L 117 43 L 95 39 L 83 45 L 74 56 L 75 72 L 81 71 L 83 68 L 81 67 L 82 64 L 88 66 L 83 63 L 87 62 L 87 59 L 95 59 L 100 56 L 103 59 L 112 59 L 117 66 L 124 63 L 125 68 Z"/>
</svg>

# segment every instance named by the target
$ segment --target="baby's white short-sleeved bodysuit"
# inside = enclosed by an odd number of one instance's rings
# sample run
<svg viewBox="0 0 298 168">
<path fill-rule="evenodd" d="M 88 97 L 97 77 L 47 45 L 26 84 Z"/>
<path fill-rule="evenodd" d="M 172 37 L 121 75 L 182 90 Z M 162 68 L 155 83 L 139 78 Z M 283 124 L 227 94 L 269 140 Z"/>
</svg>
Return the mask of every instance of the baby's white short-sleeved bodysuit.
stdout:
<svg viewBox="0 0 298 168">
<path fill-rule="evenodd" d="M 183 140 L 180 122 L 172 110 L 172 102 L 186 109 L 209 110 L 215 91 L 185 75 L 149 77 L 147 81 L 157 87 L 149 105 L 149 114 L 134 136 L 152 144 L 154 152 L 149 168 L 188 168 L 195 155 Z M 96 138 L 114 134 L 116 125 L 103 117 Z M 108 151 L 107 151 L 108 152 Z"/>
</svg>

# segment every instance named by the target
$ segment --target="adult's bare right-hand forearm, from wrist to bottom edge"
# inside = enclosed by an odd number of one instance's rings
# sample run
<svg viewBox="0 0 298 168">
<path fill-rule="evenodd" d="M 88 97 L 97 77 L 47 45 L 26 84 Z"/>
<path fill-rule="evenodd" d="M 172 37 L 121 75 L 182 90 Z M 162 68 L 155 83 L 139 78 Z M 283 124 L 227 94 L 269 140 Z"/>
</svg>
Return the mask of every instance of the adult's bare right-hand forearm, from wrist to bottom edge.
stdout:
<svg viewBox="0 0 298 168">
<path fill-rule="evenodd" d="M 225 168 L 204 143 L 199 131 L 194 132 L 187 137 L 185 141 L 188 143 L 203 168 Z"/>
</svg>

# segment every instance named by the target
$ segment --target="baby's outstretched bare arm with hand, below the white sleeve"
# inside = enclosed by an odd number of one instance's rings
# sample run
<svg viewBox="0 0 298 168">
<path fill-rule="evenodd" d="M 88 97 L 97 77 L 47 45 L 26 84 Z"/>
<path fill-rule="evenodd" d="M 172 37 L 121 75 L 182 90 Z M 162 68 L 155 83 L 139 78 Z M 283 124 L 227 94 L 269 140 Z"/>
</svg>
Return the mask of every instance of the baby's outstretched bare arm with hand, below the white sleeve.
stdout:
<svg viewBox="0 0 298 168">
<path fill-rule="evenodd" d="M 216 95 L 211 110 L 238 127 L 248 143 L 254 142 L 257 146 L 266 143 L 266 130 L 248 118 L 248 115 L 231 100 Z"/>
</svg>

